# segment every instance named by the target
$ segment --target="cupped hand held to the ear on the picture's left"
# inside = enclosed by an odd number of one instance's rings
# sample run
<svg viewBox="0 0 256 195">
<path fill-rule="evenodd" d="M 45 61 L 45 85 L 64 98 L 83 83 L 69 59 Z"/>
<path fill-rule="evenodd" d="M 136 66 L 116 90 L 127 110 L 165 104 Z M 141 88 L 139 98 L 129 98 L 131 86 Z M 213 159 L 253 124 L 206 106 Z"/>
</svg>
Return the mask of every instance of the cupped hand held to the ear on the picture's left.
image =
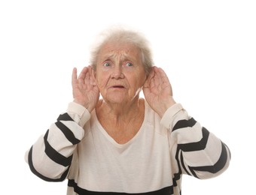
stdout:
<svg viewBox="0 0 256 195">
<path fill-rule="evenodd" d="M 77 68 L 72 73 L 72 89 L 74 102 L 81 104 L 91 113 L 99 101 L 99 88 L 96 85 L 93 69 L 84 67 L 78 77 Z"/>
</svg>

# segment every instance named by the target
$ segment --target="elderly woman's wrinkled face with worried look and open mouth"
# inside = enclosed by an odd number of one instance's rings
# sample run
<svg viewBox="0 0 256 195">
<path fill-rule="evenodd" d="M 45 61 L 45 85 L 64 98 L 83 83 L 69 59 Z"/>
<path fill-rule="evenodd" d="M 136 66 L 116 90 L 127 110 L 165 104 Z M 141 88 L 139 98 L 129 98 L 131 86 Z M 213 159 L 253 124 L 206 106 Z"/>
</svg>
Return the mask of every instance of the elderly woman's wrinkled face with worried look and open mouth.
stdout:
<svg viewBox="0 0 256 195">
<path fill-rule="evenodd" d="M 96 83 L 102 98 L 126 104 L 139 97 L 146 80 L 139 49 L 131 43 L 105 43 L 96 62 Z"/>
</svg>

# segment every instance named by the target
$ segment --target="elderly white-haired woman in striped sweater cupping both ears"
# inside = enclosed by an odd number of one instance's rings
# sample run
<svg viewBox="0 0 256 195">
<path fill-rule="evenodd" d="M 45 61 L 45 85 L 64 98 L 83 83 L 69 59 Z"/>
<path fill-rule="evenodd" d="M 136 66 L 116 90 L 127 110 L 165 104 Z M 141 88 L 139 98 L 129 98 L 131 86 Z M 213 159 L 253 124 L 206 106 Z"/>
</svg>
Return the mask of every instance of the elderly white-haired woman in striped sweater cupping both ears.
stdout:
<svg viewBox="0 0 256 195">
<path fill-rule="evenodd" d="M 74 68 L 72 89 L 67 112 L 26 152 L 38 177 L 69 180 L 67 194 L 178 195 L 182 174 L 212 178 L 227 169 L 229 149 L 175 103 L 138 32 L 106 34 L 91 66 L 79 77 Z"/>
</svg>

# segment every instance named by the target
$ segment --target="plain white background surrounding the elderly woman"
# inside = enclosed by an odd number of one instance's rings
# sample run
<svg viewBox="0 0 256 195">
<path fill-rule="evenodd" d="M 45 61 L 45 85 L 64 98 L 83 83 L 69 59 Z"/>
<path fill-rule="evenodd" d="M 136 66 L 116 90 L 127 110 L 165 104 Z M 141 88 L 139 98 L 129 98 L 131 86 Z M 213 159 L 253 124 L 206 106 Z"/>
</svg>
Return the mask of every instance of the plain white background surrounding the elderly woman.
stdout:
<svg viewBox="0 0 256 195">
<path fill-rule="evenodd" d="M 24 154 L 72 101 L 72 68 L 88 65 L 96 34 L 120 23 L 148 37 L 175 100 L 232 152 L 223 175 L 184 176 L 182 194 L 254 193 L 255 10 L 247 0 L 0 1 L 2 192 L 66 194 Z"/>
</svg>

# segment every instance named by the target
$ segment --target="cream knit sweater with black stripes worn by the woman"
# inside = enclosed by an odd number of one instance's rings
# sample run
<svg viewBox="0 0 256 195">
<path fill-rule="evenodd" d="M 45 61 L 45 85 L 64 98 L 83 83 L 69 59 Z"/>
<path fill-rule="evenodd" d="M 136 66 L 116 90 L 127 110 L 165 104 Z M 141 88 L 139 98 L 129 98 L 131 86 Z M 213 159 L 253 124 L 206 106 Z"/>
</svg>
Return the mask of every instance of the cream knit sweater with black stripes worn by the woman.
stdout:
<svg viewBox="0 0 256 195">
<path fill-rule="evenodd" d="M 70 103 L 26 152 L 35 175 L 68 179 L 67 194 L 181 194 L 182 174 L 212 178 L 227 169 L 230 151 L 213 133 L 187 115 L 181 104 L 160 118 L 145 101 L 136 136 L 118 144 L 95 111 Z"/>
</svg>

